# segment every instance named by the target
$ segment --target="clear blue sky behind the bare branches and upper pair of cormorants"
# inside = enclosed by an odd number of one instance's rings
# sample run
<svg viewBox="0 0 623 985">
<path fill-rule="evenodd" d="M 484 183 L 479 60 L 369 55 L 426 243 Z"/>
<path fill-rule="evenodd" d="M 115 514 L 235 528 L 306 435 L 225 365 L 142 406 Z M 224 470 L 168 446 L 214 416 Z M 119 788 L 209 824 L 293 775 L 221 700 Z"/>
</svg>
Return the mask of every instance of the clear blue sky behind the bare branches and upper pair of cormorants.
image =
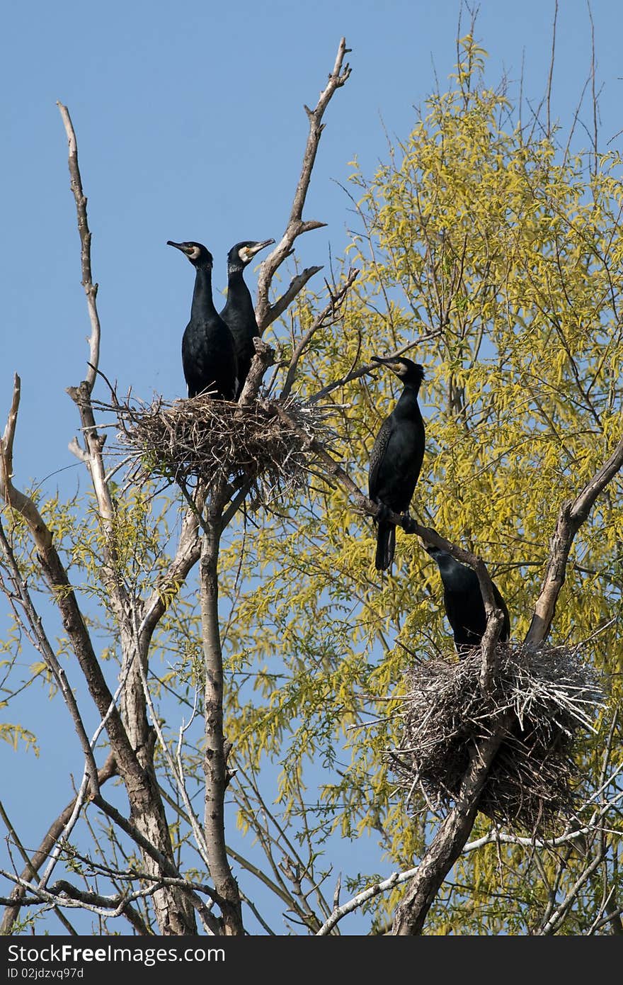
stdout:
<svg viewBox="0 0 623 985">
<path fill-rule="evenodd" d="M 591 22 L 582 0 L 562 0 L 560 8 L 552 109 L 568 127 L 590 73 Z M 44 494 L 74 490 L 82 471 L 67 447 L 78 419 L 65 390 L 84 376 L 90 327 L 56 100 L 72 115 L 89 198 L 100 368 L 121 392 L 132 386 L 146 400 L 155 392 L 171 400 L 185 395 L 180 343 L 192 271 L 166 240 L 206 243 L 217 294 L 234 242 L 280 238 L 307 133 L 303 104 L 315 104 L 344 35 L 352 75 L 327 111 L 305 210 L 327 227 L 297 248 L 303 264 L 328 265 L 330 250 L 339 255 L 346 242 L 348 162 L 356 156 L 371 173 L 385 156 L 386 132 L 407 136 L 413 106 L 435 87 L 435 75 L 445 87 L 459 9 L 457 0 L 6 6 L 0 428 L 18 372 L 18 485 L 35 482 Z M 524 95 L 538 103 L 553 11 L 549 0 L 482 0 L 476 36 L 490 54 L 492 85 L 506 74 L 519 88 L 524 64 Z M 623 127 L 623 5 L 594 0 L 592 16 L 604 150 L 611 138 L 611 147 L 620 146 Z M 463 18 L 465 33 L 466 10 Z M 589 101 L 581 119 L 591 123 Z M 581 128 L 578 141 L 589 142 Z M 253 288 L 251 272 L 247 281 Z M 80 482 L 85 489 L 85 475 Z M 4 620 L 0 602 L 0 631 Z M 48 821 L 27 807 L 35 792 L 39 803 L 54 794 L 54 805 L 64 804 L 67 774 L 81 768 L 71 734 L 67 748 L 58 745 L 60 718 L 53 725 L 33 700 L 30 692 L 25 724 L 38 732 L 44 754 L 35 760 L 0 748 L 2 796 L 27 843 L 38 842 Z"/>
</svg>

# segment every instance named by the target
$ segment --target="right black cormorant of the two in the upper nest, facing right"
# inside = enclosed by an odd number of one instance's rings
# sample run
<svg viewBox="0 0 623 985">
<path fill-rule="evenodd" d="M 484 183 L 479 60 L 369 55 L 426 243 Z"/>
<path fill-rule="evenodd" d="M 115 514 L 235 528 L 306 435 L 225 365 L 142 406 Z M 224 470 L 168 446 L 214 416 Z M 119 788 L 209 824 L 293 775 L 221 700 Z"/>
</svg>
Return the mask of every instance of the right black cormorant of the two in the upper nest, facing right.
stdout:
<svg viewBox="0 0 623 985">
<path fill-rule="evenodd" d="M 255 320 L 251 292 L 244 283 L 242 272 L 256 253 L 259 253 L 265 246 L 270 246 L 274 242 L 274 239 L 263 239 L 262 242 L 245 239 L 243 242 L 236 243 L 235 246 L 232 246 L 227 253 L 227 301 L 220 312 L 220 317 L 228 326 L 236 347 L 236 357 L 238 359 L 238 391 L 236 398 L 242 392 L 251 361 L 255 356 L 253 339 L 260 334 Z"/>
</svg>

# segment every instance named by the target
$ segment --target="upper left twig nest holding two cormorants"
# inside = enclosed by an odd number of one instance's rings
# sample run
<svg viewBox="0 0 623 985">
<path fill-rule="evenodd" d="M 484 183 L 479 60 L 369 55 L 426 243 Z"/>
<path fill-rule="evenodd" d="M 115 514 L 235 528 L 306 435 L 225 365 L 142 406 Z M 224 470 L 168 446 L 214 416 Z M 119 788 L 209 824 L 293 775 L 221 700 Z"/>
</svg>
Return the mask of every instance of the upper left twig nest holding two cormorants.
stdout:
<svg viewBox="0 0 623 985">
<path fill-rule="evenodd" d="M 245 485 L 251 499 L 268 501 L 308 483 L 312 440 L 329 448 L 335 439 L 326 418 L 332 407 L 293 397 L 258 399 L 239 406 L 207 395 L 151 405 L 117 403 L 118 440 L 138 472 L 180 486 L 201 482 Z"/>
</svg>

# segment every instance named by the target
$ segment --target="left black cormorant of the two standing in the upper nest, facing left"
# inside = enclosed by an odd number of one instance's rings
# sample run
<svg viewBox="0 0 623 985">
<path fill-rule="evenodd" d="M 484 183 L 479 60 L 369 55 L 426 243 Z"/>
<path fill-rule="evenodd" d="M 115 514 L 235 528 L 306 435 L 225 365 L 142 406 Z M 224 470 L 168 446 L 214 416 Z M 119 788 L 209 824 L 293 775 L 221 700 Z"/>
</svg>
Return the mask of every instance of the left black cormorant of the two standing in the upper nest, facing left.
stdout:
<svg viewBox="0 0 623 985">
<path fill-rule="evenodd" d="M 174 243 L 195 268 L 195 290 L 190 321 L 182 337 L 182 367 L 188 396 L 210 393 L 234 400 L 238 388 L 236 353 L 231 332 L 218 314 L 212 297 L 213 256 L 202 243 Z"/>
</svg>

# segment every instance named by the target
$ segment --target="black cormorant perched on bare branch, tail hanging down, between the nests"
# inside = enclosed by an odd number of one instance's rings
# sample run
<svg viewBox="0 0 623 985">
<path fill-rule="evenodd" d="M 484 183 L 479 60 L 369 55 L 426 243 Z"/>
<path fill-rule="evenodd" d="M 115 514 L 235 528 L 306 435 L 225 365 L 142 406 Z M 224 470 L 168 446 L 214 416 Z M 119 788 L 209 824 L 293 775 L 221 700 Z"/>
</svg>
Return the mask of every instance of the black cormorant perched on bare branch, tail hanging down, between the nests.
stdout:
<svg viewBox="0 0 623 985">
<path fill-rule="evenodd" d="M 396 407 L 385 419 L 370 455 L 368 493 L 370 499 L 395 513 L 405 513 L 411 500 L 424 457 L 424 422 L 417 405 L 423 366 L 404 357 L 373 362 L 388 366 L 403 381 L 404 389 Z M 396 527 L 378 519 L 375 564 L 378 571 L 394 560 Z"/>
</svg>

